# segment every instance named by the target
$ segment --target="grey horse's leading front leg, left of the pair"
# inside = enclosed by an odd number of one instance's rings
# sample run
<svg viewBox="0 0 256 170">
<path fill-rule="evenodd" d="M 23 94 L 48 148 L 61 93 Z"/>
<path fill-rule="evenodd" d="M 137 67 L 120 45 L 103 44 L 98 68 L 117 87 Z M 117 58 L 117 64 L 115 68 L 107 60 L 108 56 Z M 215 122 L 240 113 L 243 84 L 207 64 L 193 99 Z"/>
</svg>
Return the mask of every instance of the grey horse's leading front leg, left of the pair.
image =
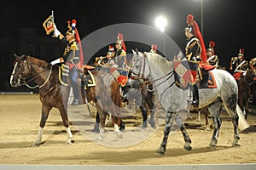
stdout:
<svg viewBox="0 0 256 170">
<path fill-rule="evenodd" d="M 171 131 L 172 122 L 175 119 L 176 113 L 174 112 L 167 112 L 166 113 L 166 125 L 164 129 L 164 138 L 162 140 L 162 143 L 160 144 L 160 147 L 156 150 L 156 152 L 160 155 L 165 155 L 166 153 L 166 144 L 168 140 L 169 133 Z"/>
</svg>

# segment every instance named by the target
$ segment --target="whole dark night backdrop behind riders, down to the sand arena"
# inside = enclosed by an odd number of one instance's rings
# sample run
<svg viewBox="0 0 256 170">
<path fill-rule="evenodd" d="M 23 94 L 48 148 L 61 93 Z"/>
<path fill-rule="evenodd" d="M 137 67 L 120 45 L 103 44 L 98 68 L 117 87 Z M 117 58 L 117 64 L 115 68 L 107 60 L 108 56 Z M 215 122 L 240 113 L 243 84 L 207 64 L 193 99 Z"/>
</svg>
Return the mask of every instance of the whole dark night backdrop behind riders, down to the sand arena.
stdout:
<svg viewBox="0 0 256 170">
<path fill-rule="evenodd" d="M 230 58 L 245 49 L 247 60 L 255 57 L 255 16 L 253 0 L 202 0 L 203 37 L 216 42 L 215 52 L 219 65 L 226 66 Z M 185 43 L 183 28 L 186 16 L 193 14 L 201 26 L 201 0 L 78 0 L 78 1 L 4 1 L 1 4 L 0 27 L 0 92 L 29 90 L 11 88 L 9 77 L 13 69 L 13 54 L 29 54 L 51 61 L 62 54 L 62 44 L 46 36 L 42 26 L 44 20 L 55 13 L 55 23 L 61 32 L 67 31 L 67 20 L 78 20 L 81 39 L 104 26 L 119 23 L 139 23 L 154 26 L 157 15 L 168 20 L 165 33 L 182 48 Z M 125 37 L 125 36 L 124 36 Z M 129 48 L 139 46 L 127 42 Z M 142 45 L 141 50 L 150 47 Z M 100 49 L 99 49 L 100 50 Z M 108 48 L 104 49 L 106 52 Z"/>
</svg>

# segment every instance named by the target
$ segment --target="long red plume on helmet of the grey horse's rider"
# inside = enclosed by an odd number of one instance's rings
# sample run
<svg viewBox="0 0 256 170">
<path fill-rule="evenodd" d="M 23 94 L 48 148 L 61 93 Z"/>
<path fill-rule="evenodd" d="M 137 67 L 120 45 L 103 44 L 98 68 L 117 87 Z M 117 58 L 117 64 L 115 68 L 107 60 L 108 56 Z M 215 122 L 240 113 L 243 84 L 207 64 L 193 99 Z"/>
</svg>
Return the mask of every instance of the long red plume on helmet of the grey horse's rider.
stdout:
<svg viewBox="0 0 256 170">
<path fill-rule="evenodd" d="M 195 22 L 194 16 L 192 14 L 188 14 L 187 16 L 187 24 L 193 26 L 194 35 L 201 42 L 201 60 L 203 63 L 205 63 L 207 62 L 207 49 L 205 47 L 205 42 L 201 36 L 201 31 L 199 29 L 199 26 Z"/>
</svg>

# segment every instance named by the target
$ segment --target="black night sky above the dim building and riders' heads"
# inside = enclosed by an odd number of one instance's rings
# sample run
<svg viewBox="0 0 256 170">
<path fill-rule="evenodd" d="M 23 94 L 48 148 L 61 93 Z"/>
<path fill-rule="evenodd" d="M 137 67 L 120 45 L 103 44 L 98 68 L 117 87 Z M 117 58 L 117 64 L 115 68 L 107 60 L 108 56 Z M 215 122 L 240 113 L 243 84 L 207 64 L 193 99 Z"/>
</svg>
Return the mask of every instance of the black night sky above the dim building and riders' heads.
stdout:
<svg viewBox="0 0 256 170">
<path fill-rule="evenodd" d="M 255 56 L 254 40 L 256 11 L 253 0 L 202 0 L 203 36 L 208 47 L 209 41 L 216 42 L 216 53 L 220 60 L 238 54 L 245 49 L 245 56 Z M 183 47 L 186 15 L 194 14 L 201 26 L 200 0 L 119 0 L 119 1 L 6 1 L 2 4 L 1 37 L 17 37 L 19 27 L 38 28 L 38 36 L 44 37 L 43 21 L 51 10 L 59 30 L 66 30 L 67 20 L 86 21 L 85 37 L 92 31 L 118 23 L 140 23 L 154 26 L 158 14 L 168 20 L 166 34 Z M 78 26 L 79 27 L 79 26 Z"/>
</svg>

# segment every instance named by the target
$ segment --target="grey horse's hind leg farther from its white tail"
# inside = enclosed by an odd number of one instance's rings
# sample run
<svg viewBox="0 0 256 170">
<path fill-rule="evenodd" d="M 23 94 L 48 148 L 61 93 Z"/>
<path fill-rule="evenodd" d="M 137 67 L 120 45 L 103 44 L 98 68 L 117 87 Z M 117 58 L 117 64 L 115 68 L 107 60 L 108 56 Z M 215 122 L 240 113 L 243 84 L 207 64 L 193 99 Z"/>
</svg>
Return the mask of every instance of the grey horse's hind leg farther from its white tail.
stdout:
<svg viewBox="0 0 256 170">
<path fill-rule="evenodd" d="M 207 106 L 208 111 L 212 115 L 212 121 L 213 121 L 213 125 L 214 125 L 212 139 L 211 139 L 211 142 L 209 144 L 210 147 L 214 147 L 218 143 L 218 133 L 219 133 L 219 128 L 220 128 L 221 122 L 222 122 L 221 118 L 220 118 L 220 115 L 219 115 L 221 106 L 222 106 L 222 101 L 220 99 L 215 101 L 212 105 Z"/>
</svg>

